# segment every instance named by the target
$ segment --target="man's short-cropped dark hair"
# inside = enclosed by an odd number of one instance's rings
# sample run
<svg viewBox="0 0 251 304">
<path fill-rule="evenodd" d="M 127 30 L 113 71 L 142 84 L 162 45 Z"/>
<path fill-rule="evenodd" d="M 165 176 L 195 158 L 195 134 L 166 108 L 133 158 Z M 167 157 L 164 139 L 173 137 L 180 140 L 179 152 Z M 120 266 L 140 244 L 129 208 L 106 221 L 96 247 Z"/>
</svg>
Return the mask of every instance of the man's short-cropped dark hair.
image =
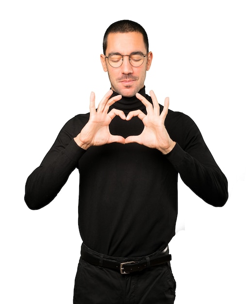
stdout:
<svg viewBox="0 0 251 304">
<path fill-rule="evenodd" d="M 144 44 L 146 46 L 147 52 L 149 52 L 148 36 L 144 28 L 137 22 L 131 20 L 120 20 L 111 24 L 104 34 L 103 39 L 103 52 L 105 54 L 107 48 L 107 37 L 110 33 L 130 33 L 138 32 L 143 35 Z"/>
</svg>

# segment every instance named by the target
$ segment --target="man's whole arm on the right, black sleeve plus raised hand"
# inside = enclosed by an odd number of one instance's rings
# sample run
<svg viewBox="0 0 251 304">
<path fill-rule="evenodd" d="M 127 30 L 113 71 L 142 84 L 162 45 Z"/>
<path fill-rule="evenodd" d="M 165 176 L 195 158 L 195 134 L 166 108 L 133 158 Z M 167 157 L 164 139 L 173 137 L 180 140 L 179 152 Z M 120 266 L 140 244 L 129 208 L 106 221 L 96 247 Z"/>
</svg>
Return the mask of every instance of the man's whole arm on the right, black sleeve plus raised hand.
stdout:
<svg viewBox="0 0 251 304">
<path fill-rule="evenodd" d="M 163 111 L 154 93 L 150 92 L 152 103 L 137 94 L 147 109 L 147 115 L 140 110 L 128 114 L 127 119 L 134 116 L 144 123 L 144 130 L 138 136 L 129 136 L 126 143 L 137 142 L 162 152 L 173 167 L 179 172 L 184 183 L 202 200 L 214 206 L 223 206 L 228 198 L 227 179 L 216 164 L 212 154 L 203 141 L 195 123 L 188 117 L 184 121 L 182 146 L 169 136 L 165 126 L 169 100 L 166 98 Z"/>
</svg>

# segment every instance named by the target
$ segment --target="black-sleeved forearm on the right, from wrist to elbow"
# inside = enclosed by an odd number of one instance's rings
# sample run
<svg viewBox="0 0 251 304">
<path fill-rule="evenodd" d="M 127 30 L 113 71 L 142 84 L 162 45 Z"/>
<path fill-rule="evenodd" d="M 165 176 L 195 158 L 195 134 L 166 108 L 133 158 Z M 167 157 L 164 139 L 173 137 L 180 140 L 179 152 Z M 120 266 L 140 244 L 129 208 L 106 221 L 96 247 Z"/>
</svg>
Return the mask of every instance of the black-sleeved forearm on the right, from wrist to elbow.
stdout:
<svg viewBox="0 0 251 304">
<path fill-rule="evenodd" d="M 195 194 L 206 203 L 223 206 L 228 199 L 227 179 L 209 153 L 209 160 L 204 155 L 207 163 L 202 163 L 176 144 L 166 157 L 179 172 L 184 184 Z"/>
</svg>

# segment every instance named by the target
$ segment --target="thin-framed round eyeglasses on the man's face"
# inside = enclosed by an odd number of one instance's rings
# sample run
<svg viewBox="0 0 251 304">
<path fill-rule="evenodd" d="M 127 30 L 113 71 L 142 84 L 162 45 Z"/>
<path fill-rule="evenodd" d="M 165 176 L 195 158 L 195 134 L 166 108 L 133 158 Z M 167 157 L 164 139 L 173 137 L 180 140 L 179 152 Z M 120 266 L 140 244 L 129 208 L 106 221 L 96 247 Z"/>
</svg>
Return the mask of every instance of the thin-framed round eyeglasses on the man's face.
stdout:
<svg viewBox="0 0 251 304">
<path fill-rule="evenodd" d="M 113 68 L 119 68 L 123 64 L 124 56 L 129 56 L 129 62 L 131 66 L 134 68 L 140 67 L 144 60 L 145 57 L 148 55 L 144 55 L 141 52 L 132 52 L 130 55 L 121 55 L 120 53 L 111 53 L 108 56 L 105 56 L 105 58 L 108 59 L 108 63 L 111 67 Z"/>
</svg>

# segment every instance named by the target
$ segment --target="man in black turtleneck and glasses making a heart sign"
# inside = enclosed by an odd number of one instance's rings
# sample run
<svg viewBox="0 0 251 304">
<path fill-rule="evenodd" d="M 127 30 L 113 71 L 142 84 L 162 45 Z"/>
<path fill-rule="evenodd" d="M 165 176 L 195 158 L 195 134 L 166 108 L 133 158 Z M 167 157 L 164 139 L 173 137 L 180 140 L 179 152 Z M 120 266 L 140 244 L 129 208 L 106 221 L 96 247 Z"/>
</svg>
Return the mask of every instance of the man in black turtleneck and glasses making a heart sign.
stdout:
<svg viewBox="0 0 251 304">
<path fill-rule="evenodd" d="M 101 64 L 111 89 L 90 113 L 70 119 L 26 183 L 31 209 L 50 203 L 80 172 L 83 239 L 74 303 L 174 303 L 168 243 L 175 234 L 177 179 L 223 206 L 227 180 L 191 118 L 145 92 L 152 53 L 137 23 L 112 24 Z M 168 114 L 167 114 L 168 112 Z"/>
</svg>

